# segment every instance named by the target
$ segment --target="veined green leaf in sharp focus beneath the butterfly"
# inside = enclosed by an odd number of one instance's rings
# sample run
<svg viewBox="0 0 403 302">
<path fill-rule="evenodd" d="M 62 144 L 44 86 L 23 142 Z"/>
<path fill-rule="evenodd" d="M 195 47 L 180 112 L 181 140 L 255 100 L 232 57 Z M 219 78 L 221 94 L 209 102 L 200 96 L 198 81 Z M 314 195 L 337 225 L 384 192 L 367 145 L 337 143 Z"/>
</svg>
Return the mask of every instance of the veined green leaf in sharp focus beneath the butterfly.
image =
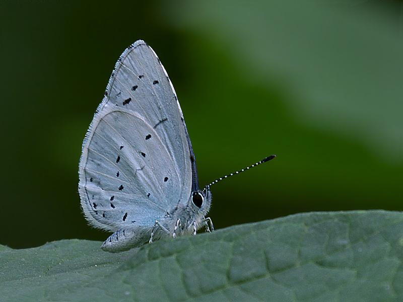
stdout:
<svg viewBox="0 0 403 302">
<path fill-rule="evenodd" d="M 403 214 L 319 212 L 167 239 L 0 247 L 2 301 L 400 301 Z"/>
</svg>

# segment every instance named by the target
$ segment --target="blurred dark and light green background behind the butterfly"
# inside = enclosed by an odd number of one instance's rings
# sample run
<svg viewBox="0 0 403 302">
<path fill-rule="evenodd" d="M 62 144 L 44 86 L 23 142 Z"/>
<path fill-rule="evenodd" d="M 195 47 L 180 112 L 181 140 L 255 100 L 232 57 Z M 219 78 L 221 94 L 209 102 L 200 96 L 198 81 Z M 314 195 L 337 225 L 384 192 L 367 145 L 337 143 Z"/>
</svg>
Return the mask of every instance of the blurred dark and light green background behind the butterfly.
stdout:
<svg viewBox="0 0 403 302">
<path fill-rule="evenodd" d="M 403 209 L 401 1 L 0 2 L 0 244 L 80 238 L 81 144 L 143 39 L 177 92 L 217 228 Z"/>
</svg>

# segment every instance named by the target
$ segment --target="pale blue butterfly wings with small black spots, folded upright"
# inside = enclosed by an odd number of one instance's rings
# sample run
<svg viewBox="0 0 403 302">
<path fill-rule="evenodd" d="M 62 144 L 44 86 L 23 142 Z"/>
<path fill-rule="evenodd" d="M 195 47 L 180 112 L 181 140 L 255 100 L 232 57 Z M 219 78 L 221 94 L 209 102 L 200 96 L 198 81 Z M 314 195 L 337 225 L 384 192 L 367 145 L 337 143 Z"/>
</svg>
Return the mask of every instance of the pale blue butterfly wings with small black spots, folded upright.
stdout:
<svg viewBox="0 0 403 302">
<path fill-rule="evenodd" d="M 187 203 L 191 145 L 168 75 L 143 41 L 116 62 L 83 143 L 81 205 L 97 228 L 152 228 Z"/>
</svg>

